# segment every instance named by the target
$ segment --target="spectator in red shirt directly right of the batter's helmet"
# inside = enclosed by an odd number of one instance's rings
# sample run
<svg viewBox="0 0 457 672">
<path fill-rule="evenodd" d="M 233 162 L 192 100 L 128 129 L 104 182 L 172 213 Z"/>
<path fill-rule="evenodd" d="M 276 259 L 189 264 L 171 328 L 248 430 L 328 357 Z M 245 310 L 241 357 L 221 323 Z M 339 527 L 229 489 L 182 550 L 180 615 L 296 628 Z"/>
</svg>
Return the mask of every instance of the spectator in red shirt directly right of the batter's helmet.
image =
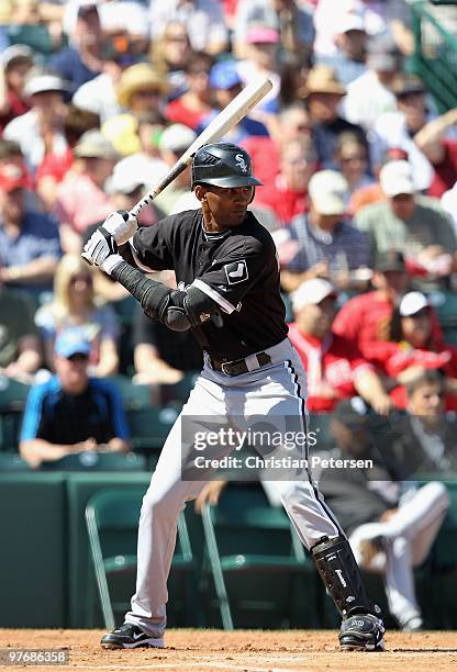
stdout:
<svg viewBox="0 0 457 672">
<path fill-rule="evenodd" d="M 317 157 L 311 138 L 294 138 L 283 143 L 280 172 L 275 187 L 264 189 L 256 205 L 268 205 L 282 226 L 296 215 L 308 212 L 308 183 L 317 169 Z"/>
</svg>

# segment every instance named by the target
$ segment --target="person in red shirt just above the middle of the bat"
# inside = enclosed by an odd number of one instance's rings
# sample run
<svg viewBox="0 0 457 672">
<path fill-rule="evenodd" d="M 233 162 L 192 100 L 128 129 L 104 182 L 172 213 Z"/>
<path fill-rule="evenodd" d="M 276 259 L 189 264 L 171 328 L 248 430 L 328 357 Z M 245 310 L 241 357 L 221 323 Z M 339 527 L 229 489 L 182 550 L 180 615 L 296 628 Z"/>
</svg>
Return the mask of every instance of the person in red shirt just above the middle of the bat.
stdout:
<svg viewBox="0 0 457 672">
<path fill-rule="evenodd" d="M 165 108 L 166 119 L 174 124 L 185 124 L 194 131 L 211 114 L 210 70 L 213 58 L 204 52 L 194 52 L 186 68 L 188 90 L 168 103 Z"/>
</svg>

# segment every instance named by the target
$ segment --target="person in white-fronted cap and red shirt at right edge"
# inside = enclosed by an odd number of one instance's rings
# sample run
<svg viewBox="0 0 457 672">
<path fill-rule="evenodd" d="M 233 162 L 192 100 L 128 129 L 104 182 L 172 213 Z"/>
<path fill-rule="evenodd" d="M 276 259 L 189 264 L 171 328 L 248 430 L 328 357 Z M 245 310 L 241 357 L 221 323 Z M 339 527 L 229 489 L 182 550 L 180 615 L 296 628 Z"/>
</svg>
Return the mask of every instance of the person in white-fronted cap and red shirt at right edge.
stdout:
<svg viewBox="0 0 457 672">
<path fill-rule="evenodd" d="M 388 341 L 372 343 L 369 360 L 392 380 L 397 407 L 408 404 L 405 383 L 426 369 L 438 369 L 446 376 L 446 406 L 457 408 L 457 348 L 434 335 L 431 305 L 421 292 L 403 296 L 392 313 Z"/>
</svg>

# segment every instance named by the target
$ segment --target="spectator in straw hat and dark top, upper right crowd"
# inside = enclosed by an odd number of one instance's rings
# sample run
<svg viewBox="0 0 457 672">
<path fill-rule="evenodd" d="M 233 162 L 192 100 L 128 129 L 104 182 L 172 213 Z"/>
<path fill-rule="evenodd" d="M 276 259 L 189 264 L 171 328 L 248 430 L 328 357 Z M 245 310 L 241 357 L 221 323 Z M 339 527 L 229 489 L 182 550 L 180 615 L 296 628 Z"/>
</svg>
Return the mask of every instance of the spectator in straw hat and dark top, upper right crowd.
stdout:
<svg viewBox="0 0 457 672">
<path fill-rule="evenodd" d="M 346 89 L 328 66 L 316 65 L 310 70 L 306 80 L 306 107 L 317 158 L 324 168 L 334 167 L 335 145 L 342 133 L 352 131 L 368 146 L 363 128 L 339 115 L 339 103 L 345 93 Z"/>
</svg>

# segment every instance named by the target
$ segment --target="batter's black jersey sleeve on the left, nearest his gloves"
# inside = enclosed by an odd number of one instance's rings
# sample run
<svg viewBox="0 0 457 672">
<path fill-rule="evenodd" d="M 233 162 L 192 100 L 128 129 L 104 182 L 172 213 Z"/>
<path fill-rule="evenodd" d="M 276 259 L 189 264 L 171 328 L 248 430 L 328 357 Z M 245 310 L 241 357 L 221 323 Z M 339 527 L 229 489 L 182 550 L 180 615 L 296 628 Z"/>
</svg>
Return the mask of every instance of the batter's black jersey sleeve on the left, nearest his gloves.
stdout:
<svg viewBox="0 0 457 672">
<path fill-rule="evenodd" d="M 142 226 L 131 240 L 137 266 L 145 271 L 172 270 L 171 217 L 165 217 L 152 226 Z"/>
</svg>

